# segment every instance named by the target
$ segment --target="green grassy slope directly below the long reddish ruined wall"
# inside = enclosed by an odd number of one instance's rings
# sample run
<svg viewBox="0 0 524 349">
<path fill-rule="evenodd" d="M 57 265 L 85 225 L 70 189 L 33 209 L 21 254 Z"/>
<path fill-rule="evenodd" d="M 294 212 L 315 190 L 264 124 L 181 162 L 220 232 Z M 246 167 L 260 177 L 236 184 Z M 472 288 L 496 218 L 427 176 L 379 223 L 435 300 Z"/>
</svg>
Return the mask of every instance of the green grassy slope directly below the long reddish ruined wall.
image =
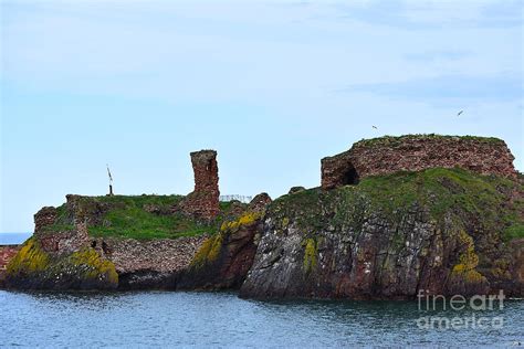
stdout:
<svg viewBox="0 0 524 349">
<path fill-rule="evenodd" d="M 294 219 L 307 235 L 338 222 L 359 225 L 369 211 L 398 221 L 418 204 L 428 208 L 436 221 L 442 221 L 450 212 L 459 221 L 476 218 L 483 230 L 500 231 L 509 241 L 524 237 L 524 200 L 516 197 L 509 202 L 515 190 L 524 192 L 523 184 L 460 168 L 434 168 L 367 177 L 357 186 L 329 191 L 315 188 L 287 194 L 275 200 L 270 210 L 279 213 L 283 222 Z M 354 229 L 358 231 L 360 226 Z"/>
</svg>

